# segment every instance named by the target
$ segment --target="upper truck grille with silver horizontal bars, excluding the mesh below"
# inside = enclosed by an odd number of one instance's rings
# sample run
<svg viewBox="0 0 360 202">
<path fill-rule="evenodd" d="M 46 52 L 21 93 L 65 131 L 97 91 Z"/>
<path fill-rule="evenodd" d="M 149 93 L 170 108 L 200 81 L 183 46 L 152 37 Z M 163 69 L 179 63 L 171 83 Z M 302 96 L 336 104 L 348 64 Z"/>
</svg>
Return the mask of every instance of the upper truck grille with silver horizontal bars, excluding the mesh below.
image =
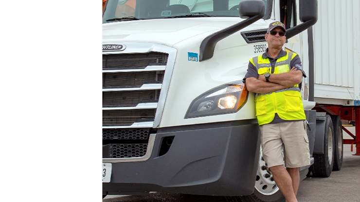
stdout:
<svg viewBox="0 0 360 202">
<path fill-rule="evenodd" d="M 161 52 L 103 54 L 103 126 L 154 121 L 167 57 Z M 139 104 L 145 106 L 136 108 Z"/>
</svg>

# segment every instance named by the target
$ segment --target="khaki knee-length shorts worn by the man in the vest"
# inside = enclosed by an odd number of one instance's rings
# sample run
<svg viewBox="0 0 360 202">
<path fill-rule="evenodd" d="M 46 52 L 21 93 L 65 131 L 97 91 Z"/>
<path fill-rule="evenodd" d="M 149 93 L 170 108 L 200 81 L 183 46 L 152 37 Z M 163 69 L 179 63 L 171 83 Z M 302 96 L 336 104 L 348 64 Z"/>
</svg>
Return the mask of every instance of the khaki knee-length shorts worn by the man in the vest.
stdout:
<svg viewBox="0 0 360 202">
<path fill-rule="evenodd" d="M 310 165 L 309 140 L 304 121 L 269 123 L 260 126 L 261 147 L 268 167 L 299 168 Z M 283 157 L 284 147 L 284 157 Z"/>
</svg>

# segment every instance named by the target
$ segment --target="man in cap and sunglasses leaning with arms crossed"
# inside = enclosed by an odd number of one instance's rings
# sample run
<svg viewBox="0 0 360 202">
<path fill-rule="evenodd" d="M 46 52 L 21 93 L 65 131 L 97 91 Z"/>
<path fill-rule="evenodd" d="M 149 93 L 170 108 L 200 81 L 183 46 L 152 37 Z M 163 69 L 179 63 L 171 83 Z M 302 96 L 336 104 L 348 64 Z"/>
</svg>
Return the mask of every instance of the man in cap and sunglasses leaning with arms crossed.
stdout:
<svg viewBox="0 0 360 202">
<path fill-rule="evenodd" d="M 268 48 L 250 59 L 244 80 L 248 90 L 256 93 L 264 160 L 286 201 L 297 202 L 299 167 L 310 165 L 306 117 L 298 86 L 306 75 L 299 55 L 282 50 L 285 34 L 283 23 L 270 23 L 265 34 Z"/>
</svg>

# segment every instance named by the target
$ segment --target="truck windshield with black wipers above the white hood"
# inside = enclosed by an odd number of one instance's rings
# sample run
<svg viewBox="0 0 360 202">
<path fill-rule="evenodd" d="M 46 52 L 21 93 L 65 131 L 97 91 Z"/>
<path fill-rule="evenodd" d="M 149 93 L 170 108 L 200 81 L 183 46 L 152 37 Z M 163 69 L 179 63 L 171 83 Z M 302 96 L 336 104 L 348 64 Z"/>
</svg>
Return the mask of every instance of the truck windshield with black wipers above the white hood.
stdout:
<svg viewBox="0 0 360 202">
<path fill-rule="evenodd" d="M 108 0 L 103 23 L 178 17 L 239 17 L 241 0 Z M 269 18 L 272 0 L 265 2 Z"/>
</svg>

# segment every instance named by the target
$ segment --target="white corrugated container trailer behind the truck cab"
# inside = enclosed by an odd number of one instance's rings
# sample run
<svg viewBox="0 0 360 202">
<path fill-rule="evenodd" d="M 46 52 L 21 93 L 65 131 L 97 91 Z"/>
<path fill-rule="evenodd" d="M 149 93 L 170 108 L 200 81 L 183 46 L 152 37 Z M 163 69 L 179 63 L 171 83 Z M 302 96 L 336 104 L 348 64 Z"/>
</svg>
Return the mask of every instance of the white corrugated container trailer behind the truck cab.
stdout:
<svg viewBox="0 0 360 202">
<path fill-rule="evenodd" d="M 359 105 L 360 1 L 319 0 L 314 37 L 314 101 Z"/>
</svg>

